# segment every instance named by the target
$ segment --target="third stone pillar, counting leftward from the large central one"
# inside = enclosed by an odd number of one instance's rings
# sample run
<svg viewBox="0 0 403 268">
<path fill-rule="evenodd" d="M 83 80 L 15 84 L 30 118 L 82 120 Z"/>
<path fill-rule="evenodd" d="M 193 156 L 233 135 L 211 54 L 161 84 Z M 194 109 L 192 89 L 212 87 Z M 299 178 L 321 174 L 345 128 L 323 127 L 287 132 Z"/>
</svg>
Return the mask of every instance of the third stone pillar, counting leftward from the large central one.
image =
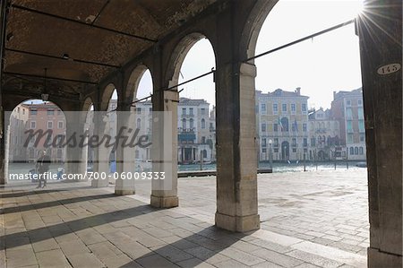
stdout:
<svg viewBox="0 0 403 268">
<path fill-rule="evenodd" d="M 118 176 L 115 181 L 115 195 L 134 195 L 135 193 L 134 178 L 130 177 L 135 171 L 135 147 L 124 146 L 124 143 L 128 143 L 124 142 L 124 136 L 130 140 L 135 128 L 135 113 L 130 112 L 130 106 L 122 107 L 120 103 L 116 127 L 116 136 L 120 138 L 116 141 L 116 172 Z"/>
</svg>

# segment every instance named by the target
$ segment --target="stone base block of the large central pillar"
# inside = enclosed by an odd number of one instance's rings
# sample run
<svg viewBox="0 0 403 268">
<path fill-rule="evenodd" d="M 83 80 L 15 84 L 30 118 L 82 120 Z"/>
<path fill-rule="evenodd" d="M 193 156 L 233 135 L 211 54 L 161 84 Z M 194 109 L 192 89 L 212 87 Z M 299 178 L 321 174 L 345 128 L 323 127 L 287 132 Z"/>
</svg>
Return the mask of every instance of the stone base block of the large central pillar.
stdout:
<svg viewBox="0 0 403 268">
<path fill-rule="evenodd" d="M 247 232 L 261 228 L 259 214 L 249 216 L 229 216 L 216 212 L 216 226 L 235 232 Z"/>
</svg>

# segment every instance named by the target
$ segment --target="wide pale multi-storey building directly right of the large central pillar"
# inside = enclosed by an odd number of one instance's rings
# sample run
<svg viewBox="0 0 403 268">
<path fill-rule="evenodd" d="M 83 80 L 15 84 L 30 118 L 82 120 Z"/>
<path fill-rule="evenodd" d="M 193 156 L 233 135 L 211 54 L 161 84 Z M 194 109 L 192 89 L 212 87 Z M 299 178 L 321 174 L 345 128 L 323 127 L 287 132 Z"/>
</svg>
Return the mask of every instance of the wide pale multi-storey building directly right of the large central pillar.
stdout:
<svg viewBox="0 0 403 268">
<path fill-rule="evenodd" d="M 296 91 L 256 91 L 259 160 L 303 160 L 308 153 L 309 97 Z"/>
</svg>

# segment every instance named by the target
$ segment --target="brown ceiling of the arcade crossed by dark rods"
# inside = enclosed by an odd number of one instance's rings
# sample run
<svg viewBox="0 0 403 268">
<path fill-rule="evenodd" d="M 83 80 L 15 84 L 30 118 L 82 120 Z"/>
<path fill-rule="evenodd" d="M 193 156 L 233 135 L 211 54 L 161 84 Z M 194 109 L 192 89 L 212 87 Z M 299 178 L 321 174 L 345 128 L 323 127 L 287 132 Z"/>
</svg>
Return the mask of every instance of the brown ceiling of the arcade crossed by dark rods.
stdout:
<svg viewBox="0 0 403 268">
<path fill-rule="evenodd" d="M 216 0 L 13 0 L 4 89 L 84 93 Z"/>
</svg>

